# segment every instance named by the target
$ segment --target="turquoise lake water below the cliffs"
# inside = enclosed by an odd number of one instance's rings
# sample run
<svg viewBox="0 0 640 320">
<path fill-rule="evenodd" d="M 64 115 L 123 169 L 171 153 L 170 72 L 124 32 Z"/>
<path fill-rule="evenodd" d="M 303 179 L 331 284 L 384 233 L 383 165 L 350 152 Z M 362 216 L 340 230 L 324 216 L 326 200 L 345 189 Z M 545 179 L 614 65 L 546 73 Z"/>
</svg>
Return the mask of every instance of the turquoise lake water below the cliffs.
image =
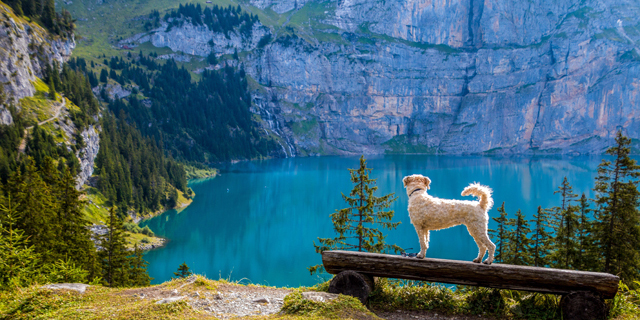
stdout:
<svg viewBox="0 0 640 320">
<path fill-rule="evenodd" d="M 553 192 L 567 177 L 577 194 L 593 197 L 596 169 L 602 157 L 495 158 L 422 155 L 371 156 L 368 167 L 376 178 L 378 196 L 395 192 L 394 221 L 385 231 L 387 243 L 419 251 L 407 213 L 404 176 L 419 173 L 431 178 L 429 193 L 448 199 L 468 199 L 460 192 L 472 182 L 493 188 L 496 207 L 514 217 L 517 209 L 531 217 L 541 205 L 560 204 Z M 168 244 L 148 252 L 152 283 L 167 281 L 182 262 L 191 271 L 211 279 L 246 279 L 271 286 L 311 286 L 321 281 L 307 267 L 322 263 L 313 242 L 333 237 L 331 214 L 346 207 L 341 192 L 352 188 L 347 168 L 357 168 L 358 157 L 312 157 L 247 161 L 229 164 L 213 179 L 190 182 L 193 203 L 181 212 L 168 211 L 144 221 Z M 495 227 L 491 221 L 490 228 Z M 477 247 L 465 227 L 431 232 L 427 257 L 472 260 Z M 325 276 L 326 277 L 326 276 Z"/>
</svg>

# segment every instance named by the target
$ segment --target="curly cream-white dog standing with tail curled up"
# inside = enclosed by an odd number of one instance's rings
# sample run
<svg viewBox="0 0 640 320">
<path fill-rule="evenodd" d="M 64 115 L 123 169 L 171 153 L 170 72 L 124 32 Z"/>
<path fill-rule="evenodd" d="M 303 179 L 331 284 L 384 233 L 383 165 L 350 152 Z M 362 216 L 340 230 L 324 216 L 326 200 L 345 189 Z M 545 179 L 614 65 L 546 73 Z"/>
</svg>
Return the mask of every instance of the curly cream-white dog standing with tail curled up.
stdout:
<svg viewBox="0 0 640 320">
<path fill-rule="evenodd" d="M 480 201 L 448 200 L 432 197 L 427 194 L 431 180 L 425 176 L 414 174 L 402 179 L 409 196 L 409 217 L 416 228 L 420 240 L 418 258 L 424 258 L 429 249 L 429 230 L 441 230 L 458 225 L 467 226 L 469 234 L 478 245 L 478 257 L 473 262 L 482 261 L 485 251 L 489 257 L 485 264 L 493 262 L 496 245 L 487 234 L 489 214 L 493 205 L 491 189 L 473 183 L 462 190 L 463 196 L 474 195 Z"/>
</svg>

